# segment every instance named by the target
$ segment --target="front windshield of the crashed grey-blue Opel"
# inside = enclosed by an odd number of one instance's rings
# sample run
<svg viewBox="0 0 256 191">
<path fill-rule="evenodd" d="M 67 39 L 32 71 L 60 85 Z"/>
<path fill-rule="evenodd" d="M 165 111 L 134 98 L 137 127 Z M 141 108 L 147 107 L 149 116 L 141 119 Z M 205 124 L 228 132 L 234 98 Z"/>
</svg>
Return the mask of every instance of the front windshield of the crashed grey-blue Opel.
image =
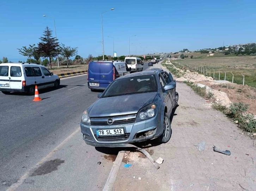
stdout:
<svg viewBox="0 0 256 191">
<path fill-rule="evenodd" d="M 157 92 L 154 75 L 140 75 L 113 81 L 102 97 Z"/>
</svg>

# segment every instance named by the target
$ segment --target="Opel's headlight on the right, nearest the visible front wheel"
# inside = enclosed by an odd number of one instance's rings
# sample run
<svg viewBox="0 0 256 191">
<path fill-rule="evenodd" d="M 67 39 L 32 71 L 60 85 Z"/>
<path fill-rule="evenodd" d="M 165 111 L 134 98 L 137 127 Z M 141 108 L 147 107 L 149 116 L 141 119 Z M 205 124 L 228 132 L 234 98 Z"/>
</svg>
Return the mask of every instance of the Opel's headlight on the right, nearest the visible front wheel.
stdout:
<svg viewBox="0 0 256 191">
<path fill-rule="evenodd" d="M 156 111 L 156 104 L 155 103 L 147 105 L 147 106 L 143 107 L 138 112 L 135 122 L 150 119 L 150 118 L 156 116 L 156 113 L 157 113 L 157 111 Z"/>
</svg>

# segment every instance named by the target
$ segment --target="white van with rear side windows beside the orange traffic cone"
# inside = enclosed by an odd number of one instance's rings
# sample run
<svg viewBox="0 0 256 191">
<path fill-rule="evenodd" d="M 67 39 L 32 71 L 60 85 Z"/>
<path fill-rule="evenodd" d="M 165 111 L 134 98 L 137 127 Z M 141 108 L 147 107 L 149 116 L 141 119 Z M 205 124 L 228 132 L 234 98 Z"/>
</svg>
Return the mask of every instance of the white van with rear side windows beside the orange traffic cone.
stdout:
<svg viewBox="0 0 256 191">
<path fill-rule="evenodd" d="M 46 67 L 32 63 L 2 63 L 0 64 L 0 91 L 28 92 L 35 94 L 35 85 L 38 89 L 47 87 L 58 88 L 60 78 Z"/>
</svg>

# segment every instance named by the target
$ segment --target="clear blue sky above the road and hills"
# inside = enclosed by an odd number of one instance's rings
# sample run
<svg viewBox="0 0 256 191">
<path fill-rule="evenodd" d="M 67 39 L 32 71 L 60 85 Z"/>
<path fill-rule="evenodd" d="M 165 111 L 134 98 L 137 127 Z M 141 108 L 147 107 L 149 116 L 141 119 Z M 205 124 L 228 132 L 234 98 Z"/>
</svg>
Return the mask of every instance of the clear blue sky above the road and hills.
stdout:
<svg viewBox="0 0 256 191">
<path fill-rule="evenodd" d="M 0 59 L 24 58 L 17 48 L 37 44 L 46 26 L 67 46 L 78 47 L 78 54 L 102 54 L 101 13 L 104 49 L 117 56 L 154 52 L 173 52 L 183 48 L 197 50 L 228 43 L 255 42 L 256 1 L 238 0 L 8 0 L 1 2 Z M 53 33 L 54 34 L 54 33 Z M 55 34 L 54 34 L 55 35 Z M 132 44 L 133 43 L 133 44 Z"/>
</svg>

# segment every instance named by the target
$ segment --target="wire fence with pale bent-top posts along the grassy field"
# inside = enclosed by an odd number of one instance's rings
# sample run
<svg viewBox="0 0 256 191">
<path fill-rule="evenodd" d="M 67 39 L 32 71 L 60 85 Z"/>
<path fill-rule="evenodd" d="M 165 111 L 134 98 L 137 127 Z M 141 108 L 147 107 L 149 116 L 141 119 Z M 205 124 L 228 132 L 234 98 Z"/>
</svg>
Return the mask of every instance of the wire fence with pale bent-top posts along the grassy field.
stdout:
<svg viewBox="0 0 256 191">
<path fill-rule="evenodd" d="M 218 69 L 213 69 L 211 67 L 205 66 L 198 66 L 196 64 L 182 64 L 177 62 L 175 64 L 186 67 L 185 69 L 188 69 L 191 72 L 198 72 L 199 74 L 212 77 L 214 80 L 227 80 L 235 84 L 245 85 L 245 76 L 243 74 L 234 75 L 232 72 L 229 71 L 220 71 Z"/>
</svg>

